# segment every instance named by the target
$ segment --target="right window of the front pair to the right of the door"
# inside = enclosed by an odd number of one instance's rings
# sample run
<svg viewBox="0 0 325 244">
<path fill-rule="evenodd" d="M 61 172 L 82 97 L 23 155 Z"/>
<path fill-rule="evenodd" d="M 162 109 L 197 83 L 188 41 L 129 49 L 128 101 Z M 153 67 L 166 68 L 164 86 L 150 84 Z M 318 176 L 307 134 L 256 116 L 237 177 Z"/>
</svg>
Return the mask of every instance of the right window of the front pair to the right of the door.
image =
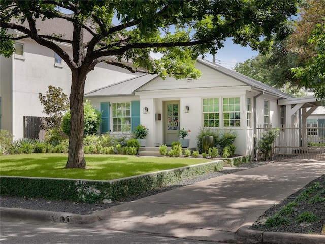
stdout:
<svg viewBox="0 0 325 244">
<path fill-rule="evenodd" d="M 223 126 L 240 127 L 240 99 L 223 98 Z"/>
</svg>

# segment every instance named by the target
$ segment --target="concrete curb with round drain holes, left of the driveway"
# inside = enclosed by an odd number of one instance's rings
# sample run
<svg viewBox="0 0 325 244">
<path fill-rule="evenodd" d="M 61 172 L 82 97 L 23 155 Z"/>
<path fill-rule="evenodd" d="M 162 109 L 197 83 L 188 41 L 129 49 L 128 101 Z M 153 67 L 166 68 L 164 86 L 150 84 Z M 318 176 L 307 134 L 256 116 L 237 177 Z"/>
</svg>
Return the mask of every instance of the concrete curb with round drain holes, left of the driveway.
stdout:
<svg viewBox="0 0 325 244">
<path fill-rule="evenodd" d="M 51 212 L 21 208 L 0 207 L 2 221 L 28 221 L 28 223 L 91 224 L 99 221 L 95 214 L 77 215 L 68 212 Z"/>
</svg>

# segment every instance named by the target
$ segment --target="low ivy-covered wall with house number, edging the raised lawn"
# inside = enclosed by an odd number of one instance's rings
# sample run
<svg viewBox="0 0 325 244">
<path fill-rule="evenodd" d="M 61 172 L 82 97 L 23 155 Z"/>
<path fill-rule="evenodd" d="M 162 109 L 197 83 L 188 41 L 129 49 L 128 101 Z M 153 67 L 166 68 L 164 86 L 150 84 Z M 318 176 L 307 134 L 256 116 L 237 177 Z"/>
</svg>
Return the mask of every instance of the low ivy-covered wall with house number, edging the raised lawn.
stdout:
<svg viewBox="0 0 325 244">
<path fill-rule="evenodd" d="M 0 194 L 89 203 L 100 203 L 104 200 L 121 201 L 221 169 L 223 162 L 215 161 L 110 181 L 1 176 Z"/>
</svg>

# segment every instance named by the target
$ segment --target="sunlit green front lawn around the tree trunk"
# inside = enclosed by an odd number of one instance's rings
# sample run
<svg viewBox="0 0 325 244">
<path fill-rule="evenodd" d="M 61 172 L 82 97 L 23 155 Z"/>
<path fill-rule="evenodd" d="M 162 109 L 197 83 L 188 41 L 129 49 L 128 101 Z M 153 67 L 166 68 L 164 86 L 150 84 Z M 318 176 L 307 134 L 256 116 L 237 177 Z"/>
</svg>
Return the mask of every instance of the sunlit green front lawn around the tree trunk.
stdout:
<svg viewBox="0 0 325 244">
<path fill-rule="evenodd" d="M 111 180 L 179 168 L 211 160 L 195 158 L 85 155 L 87 169 L 64 169 L 68 154 L 0 156 L 0 175 L 45 178 Z"/>
</svg>

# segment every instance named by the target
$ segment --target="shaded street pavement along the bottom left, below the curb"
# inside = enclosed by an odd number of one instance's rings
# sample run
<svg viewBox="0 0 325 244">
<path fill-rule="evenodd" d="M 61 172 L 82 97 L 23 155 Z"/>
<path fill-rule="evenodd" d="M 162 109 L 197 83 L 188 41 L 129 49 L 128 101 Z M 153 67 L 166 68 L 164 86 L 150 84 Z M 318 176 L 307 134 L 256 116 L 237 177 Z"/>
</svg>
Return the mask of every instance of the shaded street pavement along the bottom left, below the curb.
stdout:
<svg viewBox="0 0 325 244">
<path fill-rule="evenodd" d="M 3 244 L 199 244 L 186 239 L 99 231 L 71 226 L 46 226 L 26 223 L 0 222 L 0 243 Z M 215 242 L 203 242 L 213 244 Z"/>
</svg>

